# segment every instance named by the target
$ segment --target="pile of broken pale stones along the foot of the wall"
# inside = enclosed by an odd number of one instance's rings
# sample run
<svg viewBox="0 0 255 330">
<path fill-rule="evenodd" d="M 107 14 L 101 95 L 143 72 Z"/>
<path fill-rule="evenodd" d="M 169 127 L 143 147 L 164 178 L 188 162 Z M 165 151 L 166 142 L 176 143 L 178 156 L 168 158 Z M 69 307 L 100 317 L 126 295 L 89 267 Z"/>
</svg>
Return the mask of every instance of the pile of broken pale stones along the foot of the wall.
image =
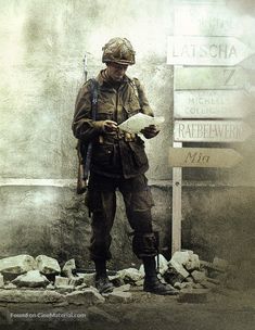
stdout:
<svg viewBox="0 0 255 330">
<path fill-rule="evenodd" d="M 226 261 L 216 257 L 213 263 L 203 262 L 192 251 L 176 252 L 169 262 L 158 256 L 158 277 L 180 291 L 180 301 L 204 302 L 205 289 L 217 288 L 228 269 Z M 56 259 L 46 255 L 7 257 L 0 259 L 0 302 L 93 306 L 105 301 L 132 302 L 135 287 L 142 292 L 143 266 L 109 277 L 115 289 L 100 294 L 94 288 L 94 274 L 77 272 L 75 259 L 67 261 L 61 269 Z"/>
</svg>

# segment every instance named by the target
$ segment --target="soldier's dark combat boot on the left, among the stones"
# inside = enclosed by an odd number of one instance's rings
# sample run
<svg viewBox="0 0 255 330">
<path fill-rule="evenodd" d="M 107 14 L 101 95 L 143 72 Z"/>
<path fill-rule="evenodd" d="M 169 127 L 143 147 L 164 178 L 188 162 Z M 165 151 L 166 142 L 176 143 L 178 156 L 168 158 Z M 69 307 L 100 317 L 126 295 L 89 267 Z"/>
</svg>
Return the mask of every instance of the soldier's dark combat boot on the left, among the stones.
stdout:
<svg viewBox="0 0 255 330">
<path fill-rule="evenodd" d="M 109 293 L 114 289 L 113 283 L 110 282 L 106 272 L 106 262 L 104 259 L 94 261 L 95 265 L 95 279 L 94 284 L 99 293 Z"/>
</svg>

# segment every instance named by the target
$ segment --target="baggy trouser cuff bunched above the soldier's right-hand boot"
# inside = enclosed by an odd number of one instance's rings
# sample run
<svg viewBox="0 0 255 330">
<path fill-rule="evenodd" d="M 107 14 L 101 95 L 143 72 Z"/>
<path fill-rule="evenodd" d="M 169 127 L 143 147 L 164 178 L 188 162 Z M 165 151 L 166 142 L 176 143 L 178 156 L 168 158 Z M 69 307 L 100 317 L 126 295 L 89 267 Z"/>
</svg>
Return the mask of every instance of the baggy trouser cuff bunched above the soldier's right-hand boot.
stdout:
<svg viewBox="0 0 255 330">
<path fill-rule="evenodd" d="M 154 232 L 135 232 L 132 239 L 132 251 L 138 258 L 143 258 L 146 256 L 156 256 L 158 244 Z"/>
</svg>

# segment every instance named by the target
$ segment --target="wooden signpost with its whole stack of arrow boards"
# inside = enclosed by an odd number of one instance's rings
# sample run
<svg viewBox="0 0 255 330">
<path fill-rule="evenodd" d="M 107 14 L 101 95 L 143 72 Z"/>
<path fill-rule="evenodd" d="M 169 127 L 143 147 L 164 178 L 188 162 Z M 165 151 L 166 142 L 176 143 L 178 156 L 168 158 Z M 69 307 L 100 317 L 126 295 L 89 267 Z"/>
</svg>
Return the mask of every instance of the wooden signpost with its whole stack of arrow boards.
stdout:
<svg viewBox="0 0 255 330">
<path fill-rule="evenodd" d="M 167 40 L 167 64 L 175 65 L 173 254 L 181 250 L 182 167 L 232 167 L 242 158 L 231 149 L 182 142 L 243 142 L 252 131 L 240 119 L 253 107 L 246 73 L 237 66 L 253 52 L 237 38 L 240 20 L 224 2 L 178 1 L 174 30 Z"/>
</svg>

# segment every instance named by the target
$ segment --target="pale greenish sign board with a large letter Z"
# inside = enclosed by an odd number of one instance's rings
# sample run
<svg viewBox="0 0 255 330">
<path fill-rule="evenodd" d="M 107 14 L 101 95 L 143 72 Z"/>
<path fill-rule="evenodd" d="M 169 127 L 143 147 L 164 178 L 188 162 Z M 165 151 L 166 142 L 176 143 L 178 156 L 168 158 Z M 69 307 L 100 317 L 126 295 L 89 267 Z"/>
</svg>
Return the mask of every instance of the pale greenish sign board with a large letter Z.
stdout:
<svg viewBox="0 0 255 330">
<path fill-rule="evenodd" d="M 245 89 L 248 84 L 242 67 L 175 67 L 175 89 Z"/>
</svg>

